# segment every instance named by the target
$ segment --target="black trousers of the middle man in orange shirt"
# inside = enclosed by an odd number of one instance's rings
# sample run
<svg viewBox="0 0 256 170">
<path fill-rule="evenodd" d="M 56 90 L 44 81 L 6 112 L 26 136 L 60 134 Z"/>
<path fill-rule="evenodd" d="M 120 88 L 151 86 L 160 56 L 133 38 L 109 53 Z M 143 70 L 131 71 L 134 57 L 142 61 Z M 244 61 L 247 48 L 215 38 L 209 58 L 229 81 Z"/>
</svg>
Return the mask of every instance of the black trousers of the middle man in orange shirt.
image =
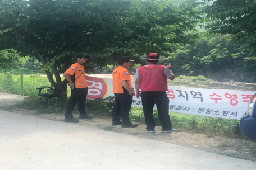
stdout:
<svg viewBox="0 0 256 170">
<path fill-rule="evenodd" d="M 130 96 L 129 93 L 114 93 L 114 95 L 116 98 L 112 111 L 112 121 L 120 121 L 120 118 L 122 118 L 123 124 L 131 122 L 129 112 L 131 109 L 132 96 Z"/>
</svg>

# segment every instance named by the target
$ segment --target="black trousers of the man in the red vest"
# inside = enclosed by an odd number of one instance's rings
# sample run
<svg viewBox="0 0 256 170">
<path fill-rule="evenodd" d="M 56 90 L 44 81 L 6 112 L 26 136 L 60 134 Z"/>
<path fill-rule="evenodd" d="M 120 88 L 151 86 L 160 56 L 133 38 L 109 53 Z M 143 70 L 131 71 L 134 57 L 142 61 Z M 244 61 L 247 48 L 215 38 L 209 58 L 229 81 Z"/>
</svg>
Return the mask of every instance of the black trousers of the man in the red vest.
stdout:
<svg viewBox="0 0 256 170">
<path fill-rule="evenodd" d="M 166 92 L 141 92 L 141 101 L 147 130 L 154 130 L 156 122 L 153 118 L 153 108 L 157 105 L 159 120 L 163 130 L 170 130 L 172 124 L 169 116 L 169 98 Z"/>
</svg>

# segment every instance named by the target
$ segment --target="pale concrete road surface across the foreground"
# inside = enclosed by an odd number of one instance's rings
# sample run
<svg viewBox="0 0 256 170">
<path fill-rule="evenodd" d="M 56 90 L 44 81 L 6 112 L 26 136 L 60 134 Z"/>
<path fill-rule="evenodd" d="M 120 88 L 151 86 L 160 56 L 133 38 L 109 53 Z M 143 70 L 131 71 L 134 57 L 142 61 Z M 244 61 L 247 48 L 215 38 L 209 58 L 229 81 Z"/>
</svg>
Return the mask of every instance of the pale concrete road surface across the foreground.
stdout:
<svg viewBox="0 0 256 170">
<path fill-rule="evenodd" d="M 0 169 L 244 170 L 256 162 L 0 110 Z M 86 122 L 85 122 L 86 124 Z"/>
</svg>

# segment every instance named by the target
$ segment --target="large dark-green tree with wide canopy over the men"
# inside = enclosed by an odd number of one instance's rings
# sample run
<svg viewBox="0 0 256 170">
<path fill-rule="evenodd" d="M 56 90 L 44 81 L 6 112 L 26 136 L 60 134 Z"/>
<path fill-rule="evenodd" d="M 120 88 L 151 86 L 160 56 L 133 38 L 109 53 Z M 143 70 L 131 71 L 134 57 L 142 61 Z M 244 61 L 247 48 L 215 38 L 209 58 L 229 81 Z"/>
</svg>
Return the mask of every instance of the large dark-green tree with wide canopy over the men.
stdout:
<svg viewBox="0 0 256 170">
<path fill-rule="evenodd" d="M 91 65 L 113 64 L 121 55 L 156 52 L 167 56 L 190 43 L 200 19 L 196 0 L 2 0 L 0 49 L 16 49 L 44 65 L 49 81 L 62 89 L 63 72 L 76 53 Z M 52 78 L 51 72 L 56 81 Z"/>
</svg>

